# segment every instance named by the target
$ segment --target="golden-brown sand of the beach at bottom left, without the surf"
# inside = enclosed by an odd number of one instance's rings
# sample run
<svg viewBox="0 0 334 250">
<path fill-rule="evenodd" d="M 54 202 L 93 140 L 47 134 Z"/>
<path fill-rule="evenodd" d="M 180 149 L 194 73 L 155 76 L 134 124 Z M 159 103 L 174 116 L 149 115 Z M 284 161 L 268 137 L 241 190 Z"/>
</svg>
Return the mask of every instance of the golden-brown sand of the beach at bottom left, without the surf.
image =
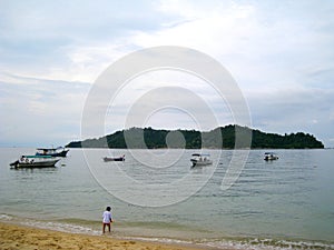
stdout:
<svg viewBox="0 0 334 250">
<path fill-rule="evenodd" d="M 121 240 L 110 236 L 59 232 L 0 222 L 0 249 L 198 250 L 200 248 L 137 240 Z"/>
</svg>

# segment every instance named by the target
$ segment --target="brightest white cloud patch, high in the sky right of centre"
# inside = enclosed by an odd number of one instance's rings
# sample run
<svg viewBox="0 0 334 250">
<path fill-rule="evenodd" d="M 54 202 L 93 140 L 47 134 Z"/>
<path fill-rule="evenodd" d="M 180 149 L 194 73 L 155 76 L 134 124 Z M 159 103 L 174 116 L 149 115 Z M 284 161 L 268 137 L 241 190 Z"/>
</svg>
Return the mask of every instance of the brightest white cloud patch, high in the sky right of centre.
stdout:
<svg viewBox="0 0 334 250">
<path fill-rule="evenodd" d="M 224 9 L 222 7 L 204 11 L 200 7 L 190 8 L 187 3 L 178 8 L 173 8 L 173 4 L 168 7 L 167 10 L 176 11 L 184 22 L 157 32 L 138 31 L 134 37 L 138 46 L 184 46 L 220 56 L 236 53 L 244 43 L 244 38 L 257 32 L 252 8 L 227 12 L 220 11 Z M 167 11 L 166 8 L 163 9 Z"/>
</svg>

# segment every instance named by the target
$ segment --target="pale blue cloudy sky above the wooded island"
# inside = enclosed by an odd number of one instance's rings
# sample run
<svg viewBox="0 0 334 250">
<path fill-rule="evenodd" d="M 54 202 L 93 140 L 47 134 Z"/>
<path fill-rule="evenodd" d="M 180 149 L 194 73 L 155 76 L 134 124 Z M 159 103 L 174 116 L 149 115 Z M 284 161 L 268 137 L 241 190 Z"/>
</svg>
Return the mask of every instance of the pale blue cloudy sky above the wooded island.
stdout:
<svg viewBox="0 0 334 250">
<path fill-rule="evenodd" d="M 331 0 L 0 0 L 0 147 L 85 139 L 82 111 L 98 77 L 122 57 L 157 46 L 190 48 L 224 66 L 247 103 L 252 128 L 311 133 L 334 147 L 333 12 Z M 235 123 L 207 82 L 170 70 L 129 81 L 105 111 L 105 132 L 126 128 L 131 107 L 140 113 L 148 93 L 168 86 L 191 90 L 218 124 Z M 200 110 L 200 101 L 180 99 Z M 198 126 L 178 104 L 157 104 L 138 127 L 214 129 Z"/>
</svg>

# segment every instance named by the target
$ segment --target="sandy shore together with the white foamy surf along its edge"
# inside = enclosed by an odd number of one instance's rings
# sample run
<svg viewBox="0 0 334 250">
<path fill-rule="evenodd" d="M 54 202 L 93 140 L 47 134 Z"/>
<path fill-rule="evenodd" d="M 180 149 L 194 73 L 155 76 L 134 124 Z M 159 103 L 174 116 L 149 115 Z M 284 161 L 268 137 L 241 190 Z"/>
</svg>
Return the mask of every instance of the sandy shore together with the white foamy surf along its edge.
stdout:
<svg viewBox="0 0 334 250">
<path fill-rule="evenodd" d="M 119 237 L 111 233 L 90 234 L 69 232 L 55 228 L 24 224 L 18 221 L 0 220 L 0 249 L 115 249 L 115 250 L 283 250 L 283 249 L 334 249 L 334 244 L 324 241 L 291 241 L 288 239 L 271 240 L 267 238 L 245 242 L 244 240 L 196 243 L 187 241 L 158 240 L 157 238 Z"/>
</svg>

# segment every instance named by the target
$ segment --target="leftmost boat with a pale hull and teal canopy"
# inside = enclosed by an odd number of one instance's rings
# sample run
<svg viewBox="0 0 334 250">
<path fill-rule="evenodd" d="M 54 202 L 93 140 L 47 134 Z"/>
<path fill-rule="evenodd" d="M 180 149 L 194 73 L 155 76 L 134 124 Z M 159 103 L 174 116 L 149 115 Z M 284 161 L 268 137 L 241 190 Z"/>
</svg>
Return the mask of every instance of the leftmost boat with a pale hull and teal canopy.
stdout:
<svg viewBox="0 0 334 250">
<path fill-rule="evenodd" d="M 51 156 L 21 156 L 19 160 L 10 163 L 13 168 L 49 168 L 60 159 Z"/>
</svg>

